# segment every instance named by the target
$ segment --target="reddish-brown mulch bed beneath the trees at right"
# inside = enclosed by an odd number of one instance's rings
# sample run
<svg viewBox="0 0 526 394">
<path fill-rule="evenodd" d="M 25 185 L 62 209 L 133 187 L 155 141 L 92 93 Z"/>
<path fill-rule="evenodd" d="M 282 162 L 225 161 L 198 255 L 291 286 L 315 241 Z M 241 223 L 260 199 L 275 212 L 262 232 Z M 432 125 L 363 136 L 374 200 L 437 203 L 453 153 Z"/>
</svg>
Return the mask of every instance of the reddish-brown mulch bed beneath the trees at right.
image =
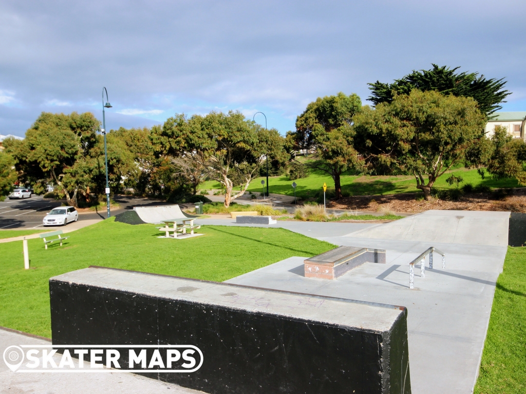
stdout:
<svg viewBox="0 0 526 394">
<path fill-rule="evenodd" d="M 351 196 L 331 201 L 328 208 L 393 213 L 423 212 L 431 209 L 526 213 L 526 190 L 516 189 L 507 193 L 472 193 L 463 195 L 459 201 L 444 201 L 437 198 L 425 201 L 420 193 Z"/>
</svg>

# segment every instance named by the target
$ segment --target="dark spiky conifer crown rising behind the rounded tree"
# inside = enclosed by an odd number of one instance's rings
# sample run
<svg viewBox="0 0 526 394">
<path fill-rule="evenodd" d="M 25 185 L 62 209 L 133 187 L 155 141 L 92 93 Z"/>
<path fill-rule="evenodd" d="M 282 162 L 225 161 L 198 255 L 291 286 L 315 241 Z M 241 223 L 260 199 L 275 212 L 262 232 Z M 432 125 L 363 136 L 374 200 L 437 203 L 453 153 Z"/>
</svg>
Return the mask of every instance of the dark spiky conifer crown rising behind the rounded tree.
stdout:
<svg viewBox="0 0 526 394">
<path fill-rule="evenodd" d="M 444 95 L 456 97 L 472 97 L 477 101 L 479 110 L 490 118 L 491 114 L 499 109 L 501 102 L 511 94 L 504 90 L 504 78 L 486 79 L 477 72 L 456 72 L 460 67 L 439 67 L 433 64 L 430 70 L 413 70 L 392 84 L 376 81 L 368 84 L 371 96 L 368 100 L 375 103 L 391 102 L 397 95 L 408 95 L 411 90 L 434 90 Z"/>
</svg>

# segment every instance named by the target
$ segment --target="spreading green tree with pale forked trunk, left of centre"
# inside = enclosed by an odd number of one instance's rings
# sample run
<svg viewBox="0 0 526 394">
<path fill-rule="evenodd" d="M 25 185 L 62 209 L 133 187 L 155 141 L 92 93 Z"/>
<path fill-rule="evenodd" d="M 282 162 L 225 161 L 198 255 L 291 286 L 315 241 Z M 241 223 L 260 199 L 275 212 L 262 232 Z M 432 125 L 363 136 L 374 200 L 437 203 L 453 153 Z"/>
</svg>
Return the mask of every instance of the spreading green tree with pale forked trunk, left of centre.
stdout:
<svg viewBox="0 0 526 394">
<path fill-rule="evenodd" d="M 177 115 L 167 119 L 162 128 L 152 130 L 151 138 L 158 154 L 194 163 L 209 179 L 221 183 L 225 206 L 247 190 L 267 154 L 272 159 L 283 149 L 277 130 L 265 130 L 234 111 L 210 112 L 189 119 Z M 236 180 L 242 182 L 242 187 L 233 193 Z"/>
</svg>

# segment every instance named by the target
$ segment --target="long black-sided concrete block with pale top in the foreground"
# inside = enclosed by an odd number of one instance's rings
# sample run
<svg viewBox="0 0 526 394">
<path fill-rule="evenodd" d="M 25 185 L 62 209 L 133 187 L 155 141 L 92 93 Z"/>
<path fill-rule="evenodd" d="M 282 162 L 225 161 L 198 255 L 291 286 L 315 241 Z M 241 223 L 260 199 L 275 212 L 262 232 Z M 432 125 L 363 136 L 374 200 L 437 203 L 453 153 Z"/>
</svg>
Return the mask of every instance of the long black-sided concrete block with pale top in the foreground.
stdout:
<svg viewBox="0 0 526 394">
<path fill-rule="evenodd" d="M 404 307 L 103 267 L 50 278 L 49 291 L 54 345 L 198 347 L 197 371 L 146 374 L 180 386 L 411 392 Z"/>
</svg>

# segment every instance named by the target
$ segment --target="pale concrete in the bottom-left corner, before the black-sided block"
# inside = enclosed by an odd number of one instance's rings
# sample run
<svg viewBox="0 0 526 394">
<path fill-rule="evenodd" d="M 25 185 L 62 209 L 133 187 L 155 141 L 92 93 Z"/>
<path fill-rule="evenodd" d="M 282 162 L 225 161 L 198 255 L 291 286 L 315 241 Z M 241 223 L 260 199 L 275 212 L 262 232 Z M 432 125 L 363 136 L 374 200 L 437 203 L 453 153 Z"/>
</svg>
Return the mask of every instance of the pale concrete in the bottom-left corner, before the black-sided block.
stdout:
<svg viewBox="0 0 526 394">
<path fill-rule="evenodd" d="M 14 330 L 0 329 L 0 349 L 12 345 L 47 345 L 49 340 L 24 335 Z M 58 365 L 61 356 L 53 359 Z M 42 360 L 40 361 L 42 365 Z M 105 374 L 33 374 L 14 373 L 0 361 L 0 394 L 78 394 L 78 393 L 115 393 L 115 394 L 202 394 L 202 391 L 164 383 L 143 376 L 115 372 Z"/>
</svg>

